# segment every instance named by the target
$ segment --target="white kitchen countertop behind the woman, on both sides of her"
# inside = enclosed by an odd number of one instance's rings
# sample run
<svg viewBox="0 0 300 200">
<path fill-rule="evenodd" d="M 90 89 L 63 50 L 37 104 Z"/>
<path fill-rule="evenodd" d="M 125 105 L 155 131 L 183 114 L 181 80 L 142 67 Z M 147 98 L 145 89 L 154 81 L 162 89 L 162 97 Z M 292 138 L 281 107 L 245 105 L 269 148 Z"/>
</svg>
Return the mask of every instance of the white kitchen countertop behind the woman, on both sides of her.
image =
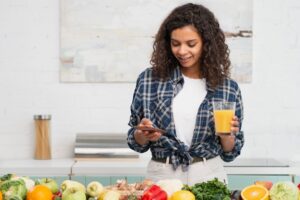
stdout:
<svg viewBox="0 0 300 200">
<path fill-rule="evenodd" d="M 115 160 L 2 160 L 0 175 L 15 173 L 20 176 L 144 176 L 149 158 Z M 243 159 L 226 163 L 225 170 L 231 175 L 300 175 L 300 166 L 249 166 Z M 243 162 L 242 162 L 243 163 Z"/>
</svg>

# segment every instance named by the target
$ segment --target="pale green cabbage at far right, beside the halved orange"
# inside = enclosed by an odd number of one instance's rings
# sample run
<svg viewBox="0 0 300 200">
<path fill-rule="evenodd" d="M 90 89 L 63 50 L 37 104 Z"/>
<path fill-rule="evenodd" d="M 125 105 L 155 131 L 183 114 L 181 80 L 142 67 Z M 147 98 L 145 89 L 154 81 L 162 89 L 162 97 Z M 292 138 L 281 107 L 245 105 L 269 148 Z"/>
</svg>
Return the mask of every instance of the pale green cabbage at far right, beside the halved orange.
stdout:
<svg viewBox="0 0 300 200">
<path fill-rule="evenodd" d="M 270 190 L 272 200 L 298 200 L 297 186 L 289 181 L 278 182 Z"/>
</svg>

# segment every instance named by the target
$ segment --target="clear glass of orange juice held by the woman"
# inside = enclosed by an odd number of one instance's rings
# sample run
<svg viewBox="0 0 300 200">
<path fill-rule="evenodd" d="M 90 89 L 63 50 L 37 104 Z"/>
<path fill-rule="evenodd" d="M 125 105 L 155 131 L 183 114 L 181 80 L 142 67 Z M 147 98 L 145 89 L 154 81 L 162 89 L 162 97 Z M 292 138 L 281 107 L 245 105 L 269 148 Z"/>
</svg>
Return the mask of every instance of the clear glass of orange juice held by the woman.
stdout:
<svg viewBox="0 0 300 200">
<path fill-rule="evenodd" d="M 213 102 L 215 131 L 218 135 L 231 133 L 231 121 L 235 113 L 235 102 Z"/>
</svg>

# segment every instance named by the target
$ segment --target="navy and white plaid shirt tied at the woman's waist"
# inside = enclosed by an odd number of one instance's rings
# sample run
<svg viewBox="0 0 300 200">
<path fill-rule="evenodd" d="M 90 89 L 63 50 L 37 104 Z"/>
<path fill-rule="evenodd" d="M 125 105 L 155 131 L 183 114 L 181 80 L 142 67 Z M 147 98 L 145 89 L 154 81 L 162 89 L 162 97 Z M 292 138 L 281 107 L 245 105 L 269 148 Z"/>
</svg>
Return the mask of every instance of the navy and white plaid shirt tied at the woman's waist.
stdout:
<svg viewBox="0 0 300 200">
<path fill-rule="evenodd" d="M 176 68 L 171 78 L 166 81 L 153 79 L 152 72 L 152 68 L 146 69 L 136 82 L 129 121 L 131 128 L 127 138 L 129 147 L 141 153 L 150 148 L 152 157 L 170 157 L 173 168 L 177 169 L 181 164 L 183 171 L 188 169 L 193 157 L 210 159 L 220 155 L 226 162 L 234 160 L 240 154 L 244 144 L 243 132 L 236 134 L 233 150 L 224 152 L 220 139 L 215 134 L 212 102 L 236 102 L 235 115 L 239 119 L 241 130 L 243 104 L 238 84 L 231 79 L 225 79 L 224 84 L 214 90 L 207 85 L 206 97 L 199 105 L 192 143 L 188 147 L 176 136 L 172 113 L 173 98 L 184 84 L 181 71 L 179 67 Z M 164 129 L 167 133 L 156 142 L 139 145 L 134 139 L 135 128 L 133 126 L 138 125 L 142 118 L 150 119 L 154 127 Z"/>
</svg>

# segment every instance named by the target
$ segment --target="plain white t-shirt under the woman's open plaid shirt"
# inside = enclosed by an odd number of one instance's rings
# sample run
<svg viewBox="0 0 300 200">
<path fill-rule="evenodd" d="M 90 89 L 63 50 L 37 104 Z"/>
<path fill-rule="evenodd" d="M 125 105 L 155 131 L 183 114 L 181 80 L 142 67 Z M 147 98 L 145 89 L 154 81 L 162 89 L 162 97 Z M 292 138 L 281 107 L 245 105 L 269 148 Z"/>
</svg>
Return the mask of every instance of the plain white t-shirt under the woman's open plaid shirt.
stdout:
<svg viewBox="0 0 300 200">
<path fill-rule="evenodd" d="M 183 76 L 184 84 L 173 100 L 173 117 L 177 137 L 191 145 L 198 109 L 206 96 L 205 79 Z"/>
</svg>

